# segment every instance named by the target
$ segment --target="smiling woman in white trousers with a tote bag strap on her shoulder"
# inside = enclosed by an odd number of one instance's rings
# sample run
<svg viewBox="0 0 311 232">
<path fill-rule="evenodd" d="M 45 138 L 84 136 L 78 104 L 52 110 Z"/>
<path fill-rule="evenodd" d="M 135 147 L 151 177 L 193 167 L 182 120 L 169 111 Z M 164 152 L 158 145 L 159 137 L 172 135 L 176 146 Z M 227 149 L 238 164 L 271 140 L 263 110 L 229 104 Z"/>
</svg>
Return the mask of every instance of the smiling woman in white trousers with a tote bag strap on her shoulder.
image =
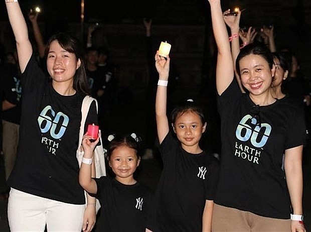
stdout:
<svg viewBox="0 0 311 232">
<path fill-rule="evenodd" d="M 19 150 L 8 179 L 10 229 L 89 232 L 96 219 L 95 198 L 87 194 L 86 205 L 76 159 L 81 106 L 89 91 L 82 47 L 70 34 L 53 35 L 46 48 L 47 77 L 33 54 L 19 3 L 6 6 L 23 73 Z M 94 100 L 85 122 L 85 133 L 86 125 L 98 124 Z"/>
</svg>

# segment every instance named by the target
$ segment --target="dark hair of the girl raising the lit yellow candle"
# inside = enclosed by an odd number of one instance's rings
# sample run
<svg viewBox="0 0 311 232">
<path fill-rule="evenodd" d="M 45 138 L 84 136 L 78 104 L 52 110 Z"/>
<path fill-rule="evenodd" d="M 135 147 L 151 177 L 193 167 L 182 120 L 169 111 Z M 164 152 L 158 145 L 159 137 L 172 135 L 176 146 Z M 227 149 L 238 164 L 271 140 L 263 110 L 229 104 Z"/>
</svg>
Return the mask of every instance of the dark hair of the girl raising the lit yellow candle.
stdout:
<svg viewBox="0 0 311 232">
<path fill-rule="evenodd" d="M 186 101 L 179 102 L 171 112 L 171 117 L 170 117 L 171 122 L 175 124 L 176 119 L 180 115 L 184 114 L 185 112 L 189 112 L 189 111 L 197 113 L 201 119 L 202 124 L 206 123 L 203 107 L 200 104 L 195 103 L 193 100 L 186 100 Z"/>
</svg>

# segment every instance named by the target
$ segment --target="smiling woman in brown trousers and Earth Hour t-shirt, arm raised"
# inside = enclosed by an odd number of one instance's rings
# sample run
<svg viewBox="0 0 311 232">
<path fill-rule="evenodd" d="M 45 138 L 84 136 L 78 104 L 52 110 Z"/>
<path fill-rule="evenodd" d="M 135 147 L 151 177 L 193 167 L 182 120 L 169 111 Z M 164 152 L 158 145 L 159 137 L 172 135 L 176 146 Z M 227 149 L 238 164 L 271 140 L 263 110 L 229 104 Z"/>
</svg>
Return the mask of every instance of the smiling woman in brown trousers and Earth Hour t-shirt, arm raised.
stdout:
<svg viewBox="0 0 311 232">
<path fill-rule="evenodd" d="M 238 54 L 236 71 L 248 90 L 241 92 L 234 78 L 221 1 L 209 0 L 209 3 L 218 48 L 216 87 L 223 167 L 213 210 L 213 230 L 270 231 L 273 228 L 305 232 L 303 115 L 288 97 L 277 99 L 273 95 L 275 65 L 265 44 L 248 44 Z"/>
</svg>

